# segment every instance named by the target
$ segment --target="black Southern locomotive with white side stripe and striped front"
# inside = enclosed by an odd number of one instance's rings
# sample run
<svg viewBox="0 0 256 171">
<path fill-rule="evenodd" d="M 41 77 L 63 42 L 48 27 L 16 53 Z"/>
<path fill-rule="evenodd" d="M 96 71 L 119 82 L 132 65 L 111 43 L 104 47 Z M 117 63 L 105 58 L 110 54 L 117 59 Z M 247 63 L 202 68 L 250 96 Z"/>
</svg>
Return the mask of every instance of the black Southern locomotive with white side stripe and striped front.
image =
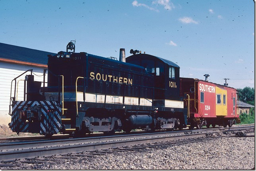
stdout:
<svg viewBox="0 0 256 171">
<path fill-rule="evenodd" d="M 26 75 L 27 99 L 11 97 L 10 128 L 52 135 L 186 127 L 178 65 L 138 51 L 130 53 L 125 58 L 120 49 L 117 61 L 75 53 L 70 42 L 66 52 L 49 55 L 47 86 L 45 79 L 43 85 L 34 81 L 31 72 Z"/>
</svg>

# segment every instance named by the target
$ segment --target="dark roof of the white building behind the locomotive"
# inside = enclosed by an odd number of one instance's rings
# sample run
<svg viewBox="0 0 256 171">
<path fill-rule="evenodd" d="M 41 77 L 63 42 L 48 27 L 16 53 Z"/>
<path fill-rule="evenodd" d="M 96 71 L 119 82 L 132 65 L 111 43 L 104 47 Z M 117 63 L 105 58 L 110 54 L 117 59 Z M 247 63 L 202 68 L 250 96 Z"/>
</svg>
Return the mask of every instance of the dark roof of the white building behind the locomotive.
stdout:
<svg viewBox="0 0 256 171">
<path fill-rule="evenodd" d="M 21 64 L 28 63 L 26 65 L 29 65 L 29 63 L 47 65 L 47 55 L 56 55 L 56 53 L 0 43 L 0 58 L 6 59 L 1 61 L 11 63 L 15 63 L 15 61 L 22 61 L 25 63 Z"/>
</svg>

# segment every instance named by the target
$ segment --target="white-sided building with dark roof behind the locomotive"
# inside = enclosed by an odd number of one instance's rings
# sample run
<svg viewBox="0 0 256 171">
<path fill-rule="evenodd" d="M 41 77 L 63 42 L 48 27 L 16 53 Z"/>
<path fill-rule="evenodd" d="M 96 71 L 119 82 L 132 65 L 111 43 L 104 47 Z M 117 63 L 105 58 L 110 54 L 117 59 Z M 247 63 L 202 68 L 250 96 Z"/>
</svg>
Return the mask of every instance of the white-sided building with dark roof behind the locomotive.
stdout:
<svg viewBox="0 0 256 171">
<path fill-rule="evenodd" d="M 35 81 L 43 82 L 43 69 L 47 68 L 47 55 L 54 53 L 0 43 L 0 124 L 11 122 L 9 113 L 11 82 L 14 78 L 33 69 Z M 27 72 L 29 75 L 31 72 Z M 16 100 L 23 101 L 25 75 L 16 79 Z M 46 75 L 47 82 L 47 75 Z M 18 84 L 18 85 L 17 85 Z M 14 97 L 12 84 L 12 97 Z"/>
</svg>

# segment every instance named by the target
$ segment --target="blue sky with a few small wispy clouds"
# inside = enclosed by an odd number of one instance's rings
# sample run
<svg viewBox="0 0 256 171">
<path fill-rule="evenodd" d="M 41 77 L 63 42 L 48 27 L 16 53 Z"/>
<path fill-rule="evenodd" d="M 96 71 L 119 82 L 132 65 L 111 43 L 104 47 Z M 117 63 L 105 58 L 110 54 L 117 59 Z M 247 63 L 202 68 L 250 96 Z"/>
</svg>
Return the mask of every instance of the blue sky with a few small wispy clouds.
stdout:
<svg viewBox="0 0 256 171">
<path fill-rule="evenodd" d="M 0 0 L 0 42 L 57 53 L 138 49 L 180 76 L 254 87 L 253 0 Z"/>
</svg>

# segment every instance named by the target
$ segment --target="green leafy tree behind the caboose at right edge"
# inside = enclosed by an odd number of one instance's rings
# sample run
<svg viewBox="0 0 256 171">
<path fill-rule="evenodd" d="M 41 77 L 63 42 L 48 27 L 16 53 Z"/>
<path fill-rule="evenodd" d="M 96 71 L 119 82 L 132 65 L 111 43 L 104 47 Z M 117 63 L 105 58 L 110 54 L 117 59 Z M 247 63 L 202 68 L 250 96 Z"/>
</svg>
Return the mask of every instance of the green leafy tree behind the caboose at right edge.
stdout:
<svg viewBox="0 0 256 171">
<path fill-rule="evenodd" d="M 239 100 L 250 105 L 254 105 L 254 88 L 244 87 L 243 89 L 237 89 L 239 92 Z"/>
</svg>

